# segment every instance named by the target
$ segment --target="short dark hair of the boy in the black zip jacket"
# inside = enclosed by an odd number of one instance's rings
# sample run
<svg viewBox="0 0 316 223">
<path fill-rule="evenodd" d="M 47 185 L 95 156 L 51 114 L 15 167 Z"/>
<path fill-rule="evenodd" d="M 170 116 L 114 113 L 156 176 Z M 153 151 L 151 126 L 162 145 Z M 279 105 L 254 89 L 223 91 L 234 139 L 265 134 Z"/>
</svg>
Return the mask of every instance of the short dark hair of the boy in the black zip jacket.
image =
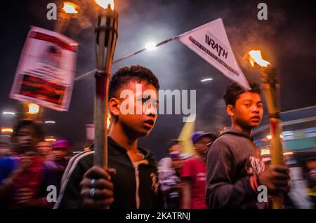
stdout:
<svg viewBox="0 0 316 223">
<path fill-rule="evenodd" d="M 130 81 L 146 81 L 159 90 L 159 81 L 150 69 L 140 65 L 120 68 L 113 76 L 109 86 L 109 100 L 115 97 L 119 89 Z"/>
</svg>

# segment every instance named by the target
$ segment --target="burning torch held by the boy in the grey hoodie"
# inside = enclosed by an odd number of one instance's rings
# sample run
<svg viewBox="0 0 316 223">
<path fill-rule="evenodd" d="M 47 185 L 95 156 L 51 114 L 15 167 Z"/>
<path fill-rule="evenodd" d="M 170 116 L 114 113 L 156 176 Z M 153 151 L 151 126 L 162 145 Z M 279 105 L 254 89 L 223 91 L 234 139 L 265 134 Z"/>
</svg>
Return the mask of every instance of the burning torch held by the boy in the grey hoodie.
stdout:
<svg viewBox="0 0 316 223">
<path fill-rule="evenodd" d="M 263 60 L 260 50 L 249 51 L 249 61 L 254 67 L 255 62 L 261 68 L 261 88 L 265 95 L 265 102 L 267 102 L 269 121 L 270 121 L 270 135 L 271 135 L 271 159 L 273 165 L 283 164 L 283 149 L 281 142 L 281 116 L 280 116 L 280 99 L 279 99 L 279 80 L 275 67 L 271 66 L 270 62 Z M 279 194 L 273 198 L 272 208 L 280 209 L 284 203 L 284 196 Z"/>
</svg>

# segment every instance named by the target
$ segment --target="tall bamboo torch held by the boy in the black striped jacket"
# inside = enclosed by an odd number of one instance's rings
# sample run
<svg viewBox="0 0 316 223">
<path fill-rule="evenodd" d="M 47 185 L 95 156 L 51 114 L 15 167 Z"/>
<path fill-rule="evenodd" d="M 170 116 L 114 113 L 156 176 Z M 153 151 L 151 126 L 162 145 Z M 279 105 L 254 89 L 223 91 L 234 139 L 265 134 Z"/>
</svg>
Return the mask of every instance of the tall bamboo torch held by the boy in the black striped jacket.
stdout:
<svg viewBox="0 0 316 223">
<path fill-rule="evenodd" d="M 100 6 L 96 22 L 96 95 L 94 102 L 94 165 L 103 168 L 107 163 L 107 100 L 108 88 L 117 44 L 119 14 L 112 0 L 95 0 Z"/>
</svg>

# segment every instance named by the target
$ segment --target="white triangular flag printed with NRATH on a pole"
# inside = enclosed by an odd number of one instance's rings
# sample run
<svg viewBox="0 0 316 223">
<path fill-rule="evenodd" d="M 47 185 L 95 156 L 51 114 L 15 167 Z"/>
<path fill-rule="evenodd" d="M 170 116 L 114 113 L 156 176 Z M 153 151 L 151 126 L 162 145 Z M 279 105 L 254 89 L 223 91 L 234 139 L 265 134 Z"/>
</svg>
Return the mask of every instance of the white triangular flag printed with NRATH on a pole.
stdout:
<svg viewBox="0 0 316 223">
<path fill-rule="evenodd" d="M 232 53 L 222 19 L 181 34 L 179 40 L 242 88 L 251 89 Z"/>
</svg>

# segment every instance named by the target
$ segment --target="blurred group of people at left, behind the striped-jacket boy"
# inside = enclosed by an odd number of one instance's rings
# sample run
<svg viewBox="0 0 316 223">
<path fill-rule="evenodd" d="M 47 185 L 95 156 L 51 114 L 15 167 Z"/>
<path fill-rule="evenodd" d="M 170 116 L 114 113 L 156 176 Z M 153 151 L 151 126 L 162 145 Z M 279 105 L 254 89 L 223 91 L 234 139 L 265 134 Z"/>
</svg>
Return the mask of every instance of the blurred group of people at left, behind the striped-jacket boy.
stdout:
<svg viewBox="0 0 316 223">
<path fill-rule="evenodd" d="M 12 145 L 1 145 L 0 207 L 53 208 L 47 188 L 54 186 L 58 196 L 70 154 L 67 140 L 46 142 L 38 123 L 20 121 Z"/>
</svg>

